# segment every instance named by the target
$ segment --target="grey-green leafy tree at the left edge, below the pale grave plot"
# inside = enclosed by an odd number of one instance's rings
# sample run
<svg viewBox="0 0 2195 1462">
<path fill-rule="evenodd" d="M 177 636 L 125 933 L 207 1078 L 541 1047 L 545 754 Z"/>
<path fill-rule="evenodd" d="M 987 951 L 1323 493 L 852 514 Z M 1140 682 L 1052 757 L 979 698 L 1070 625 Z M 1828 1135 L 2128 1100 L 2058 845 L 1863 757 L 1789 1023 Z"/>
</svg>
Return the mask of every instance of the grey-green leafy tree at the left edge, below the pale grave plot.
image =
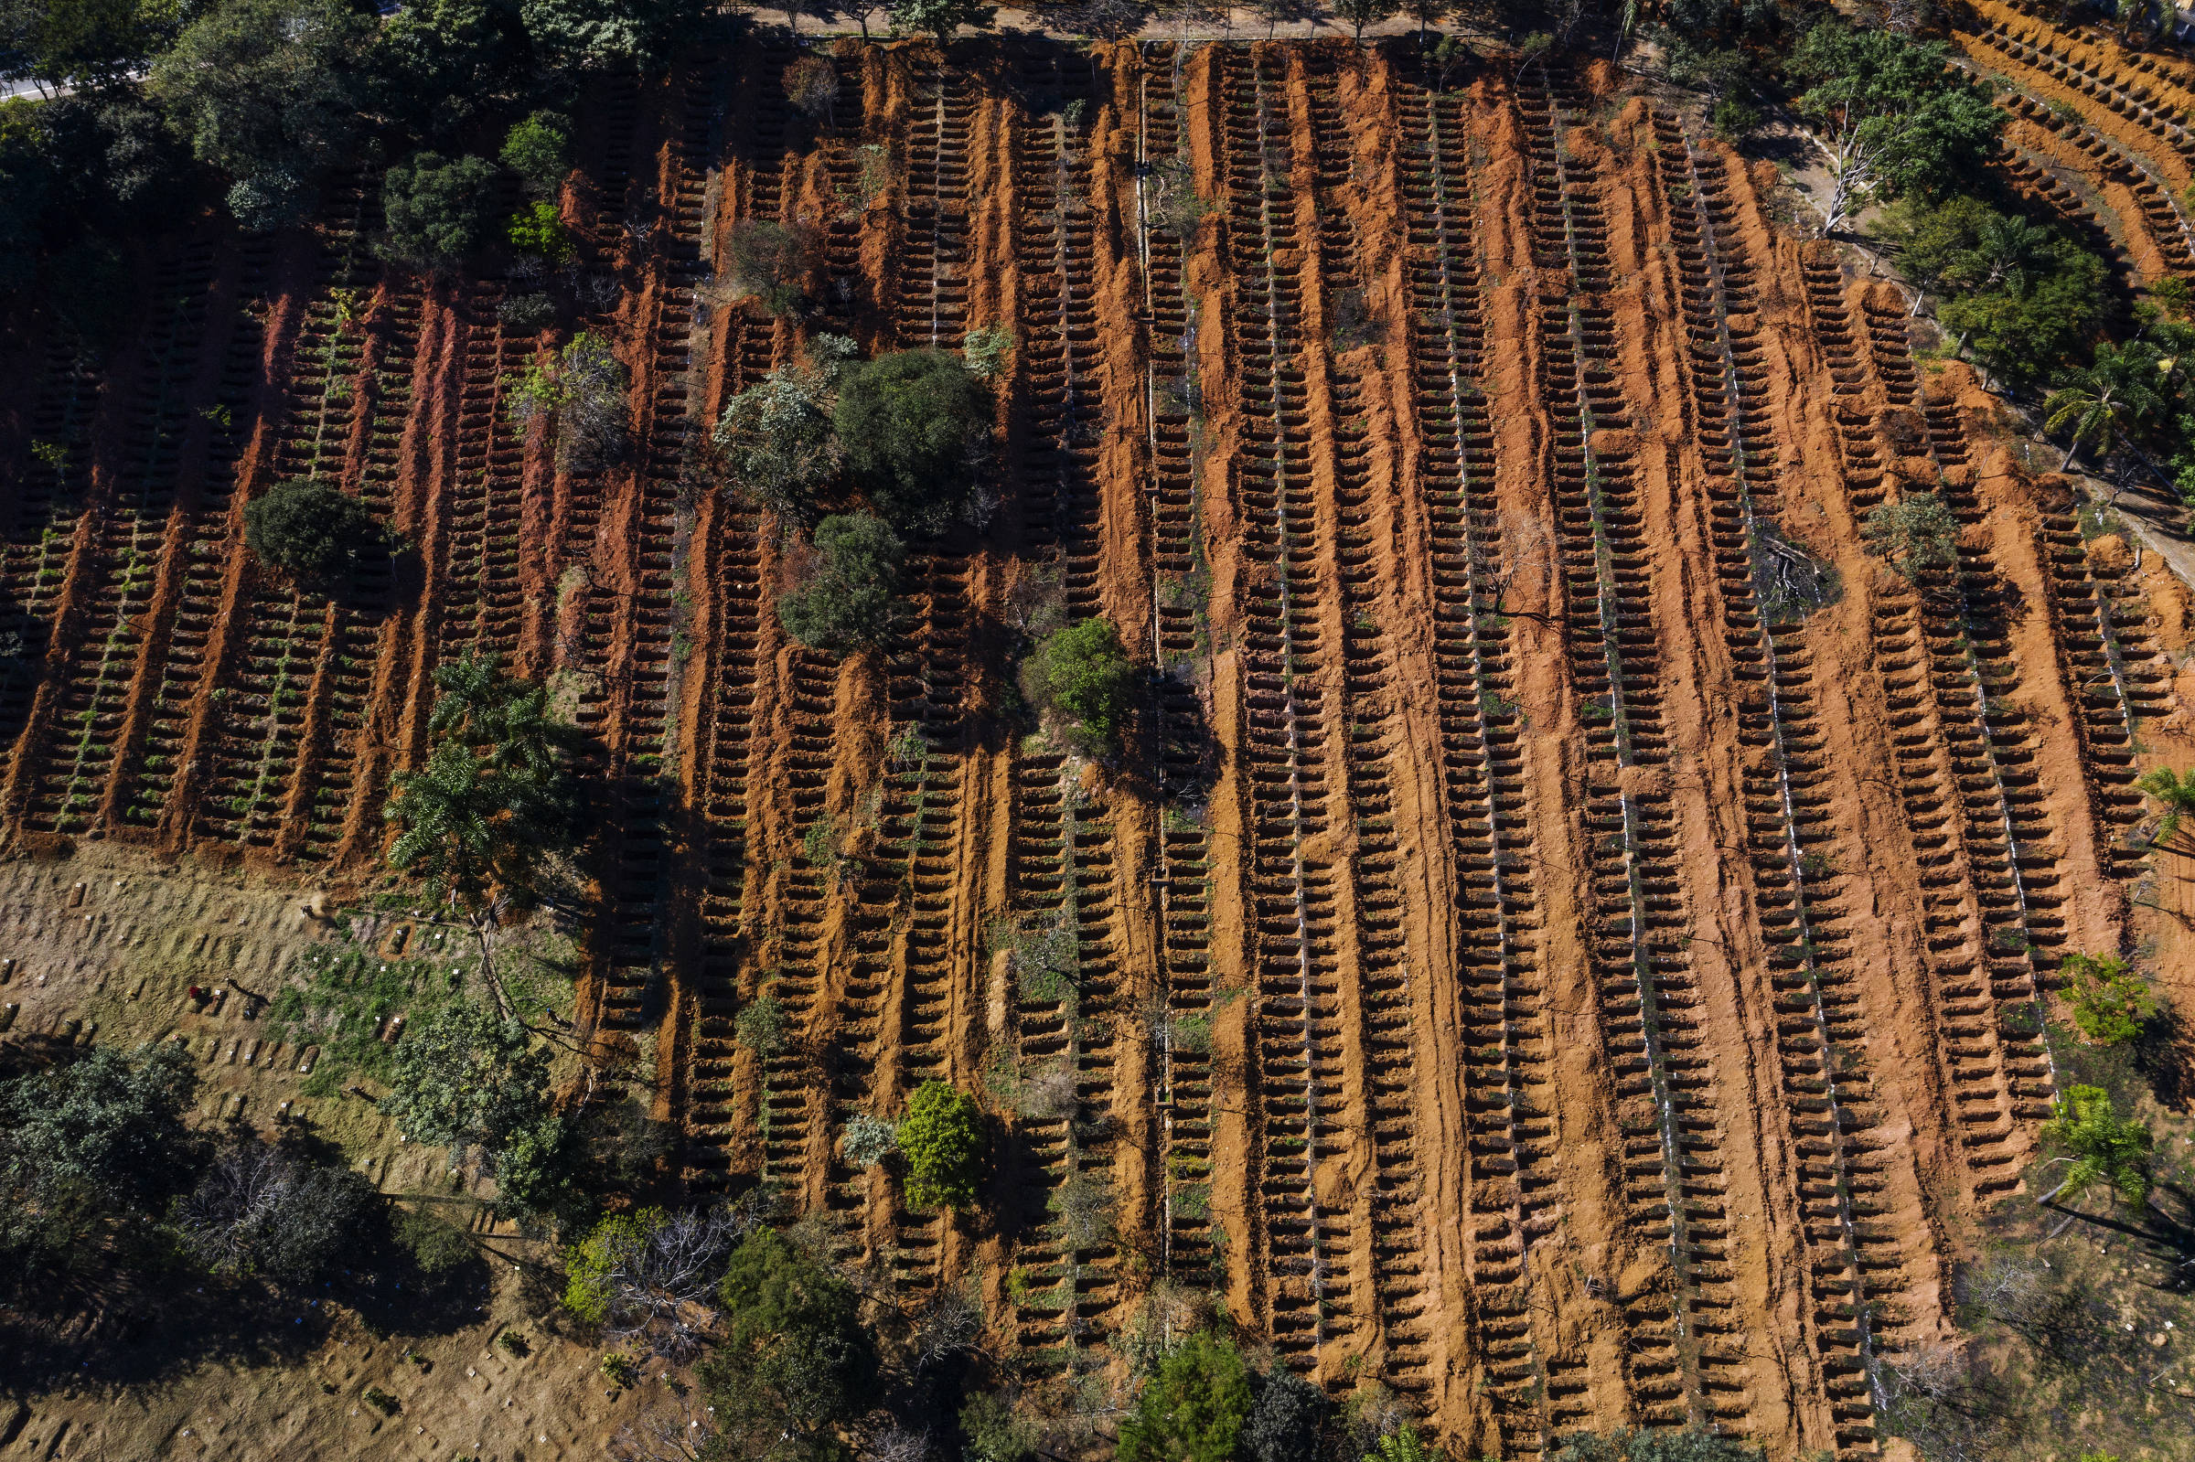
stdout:
<svg viewBox="0 0 2195 1462">
<path fill-rule="evenodd" d="M 147 1223 L 195 1161 L 198 1062 L 176 1041 L 0 1082 L 0 1256 L 20 1280 Z"/>
</svg>

